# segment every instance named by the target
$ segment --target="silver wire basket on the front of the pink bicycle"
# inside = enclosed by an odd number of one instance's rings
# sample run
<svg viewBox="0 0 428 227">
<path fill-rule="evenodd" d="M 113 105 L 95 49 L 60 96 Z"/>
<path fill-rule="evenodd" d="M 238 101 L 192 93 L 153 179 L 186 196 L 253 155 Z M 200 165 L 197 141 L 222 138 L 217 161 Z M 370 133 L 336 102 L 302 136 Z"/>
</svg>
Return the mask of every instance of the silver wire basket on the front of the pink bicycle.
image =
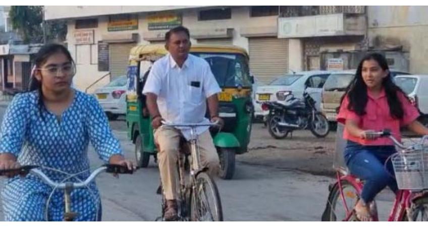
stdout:
<svg viewBox="0 0 428 227">
<path fill-rule="evenodd" d="M 399 189 L 428 189 L 428 151 L 398 153 L 392 157 Z"/>
</svg>

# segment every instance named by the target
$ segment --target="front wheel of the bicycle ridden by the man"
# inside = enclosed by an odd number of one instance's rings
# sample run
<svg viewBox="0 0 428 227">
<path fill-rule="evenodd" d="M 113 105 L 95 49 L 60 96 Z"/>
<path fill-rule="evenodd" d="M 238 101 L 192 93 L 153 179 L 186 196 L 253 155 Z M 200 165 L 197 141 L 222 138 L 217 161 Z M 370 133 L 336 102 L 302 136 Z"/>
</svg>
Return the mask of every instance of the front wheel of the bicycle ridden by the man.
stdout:
<svg viewBox="0 0 428 227">
<path fill-rule="evenodd" d="M 205 172 L 196 176 L 190 201 L 192 221 L 223 221 L 219 190 L 216 183 Z"/>
</svg>

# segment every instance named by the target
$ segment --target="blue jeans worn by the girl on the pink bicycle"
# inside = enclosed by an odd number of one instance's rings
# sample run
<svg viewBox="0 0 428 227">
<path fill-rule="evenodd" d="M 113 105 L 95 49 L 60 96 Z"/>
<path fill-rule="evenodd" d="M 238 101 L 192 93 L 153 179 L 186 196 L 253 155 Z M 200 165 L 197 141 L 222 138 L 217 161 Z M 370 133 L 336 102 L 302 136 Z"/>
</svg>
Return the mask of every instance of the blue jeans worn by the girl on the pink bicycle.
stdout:
<svg viewBox="0 0 428 227">
<path fill-rule="evenodd" d="M 398 191 L 391 159 L 385 166 L 388 157 L 397 152 L 394 146 L 365 146 L 347 141 L 344 157 L 352 175 L 365 181 L 361 199 L 365 203 L 388 186 L 394 193 Z"/>
</svg>

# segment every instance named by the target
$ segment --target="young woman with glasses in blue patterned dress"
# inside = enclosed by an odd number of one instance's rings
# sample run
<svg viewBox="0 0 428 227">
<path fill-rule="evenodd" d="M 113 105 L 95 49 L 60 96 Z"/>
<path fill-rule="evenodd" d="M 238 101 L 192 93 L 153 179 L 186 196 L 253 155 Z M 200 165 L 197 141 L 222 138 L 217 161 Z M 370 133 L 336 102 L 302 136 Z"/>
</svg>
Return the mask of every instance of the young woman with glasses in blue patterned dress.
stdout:
<svg viewBox="0 0 428 227">
<path fill-rule="evenodd" d="M 89 172 L 89 141 L 99 157 L 111 164 L 134 168 L 125 160 L 119 141 L 94 97 L 71 88 L 75 64 L 70 52 L 60 44 L 43 46 L 36 54 L 30 92 L 17 94 L 6 110 L 0 134 L 0 169 L 40 165 L 78 174 L 85 180 Z M 67 175 L 42 168 L 52 180 Z M 63 191 L 52 189 L 31 174 L 8 175 L 2 191 L 7 221 L 60 221 L 64 215 Z M 68 180 L 78 182 L 76 178 Z M 71 194 L 75 220 L 100 220 L 99 193 L 95 183 Z"/>
</svg>

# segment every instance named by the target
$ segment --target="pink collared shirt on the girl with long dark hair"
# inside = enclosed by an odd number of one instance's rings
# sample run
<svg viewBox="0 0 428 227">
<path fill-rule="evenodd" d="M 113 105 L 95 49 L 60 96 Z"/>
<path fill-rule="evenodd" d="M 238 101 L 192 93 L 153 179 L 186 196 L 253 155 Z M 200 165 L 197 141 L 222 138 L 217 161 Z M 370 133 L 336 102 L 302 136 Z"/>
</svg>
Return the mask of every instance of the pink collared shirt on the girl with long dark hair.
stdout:
<svg viewBox="0 0 428 227">
<path fill-rule="evenodd" d="M 348 96 L 346 96 L 340 105 L 337 121 L 345 124 L 347 119 L 354 120 L 362 130 L 382 131 L 384 129 L 390 129 L 393 136 L 398 141 L 401 141 L 400 127 L 407 126 L 415 121 L 417 117 L 419 117 L 419 111 L 410 103 L 403 93 L 397 92 L 397 96 L 403 106 L 403 119 L 395 119 L 391 117 L 386 93 L 385 90 L 382 89 L 379 97 L 373 97 L 373 95 L 367 90 L 367 105 L 365 107 L 366 114 L 363 116 L 358 116 L 354 111 L 348 109 L 349 100 Z M 343 138 L 362 145 L 394 145 L 394 142 L 389 138 L 385 137 L 378 138 L 376 140 L 364 140 L 351 135 L 346 129 L 343 131 Z"/>
</svg>

